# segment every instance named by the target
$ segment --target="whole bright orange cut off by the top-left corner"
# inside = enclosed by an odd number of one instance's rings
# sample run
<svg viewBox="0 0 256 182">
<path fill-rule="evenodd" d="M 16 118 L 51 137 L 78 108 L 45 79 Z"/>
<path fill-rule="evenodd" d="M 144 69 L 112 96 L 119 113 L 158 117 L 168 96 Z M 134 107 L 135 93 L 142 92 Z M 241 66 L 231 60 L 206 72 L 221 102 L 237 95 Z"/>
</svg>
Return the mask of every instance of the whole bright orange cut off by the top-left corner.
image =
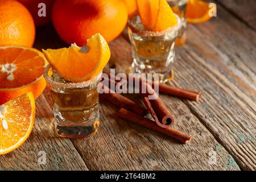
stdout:
<svg viewBox="0 0 256 182">
<path fill-rule="evenodd" d="M 35 24 L 30 12 L 14 0 L 0 0 L 0 46 L 32 47 Z"/>
</svg>

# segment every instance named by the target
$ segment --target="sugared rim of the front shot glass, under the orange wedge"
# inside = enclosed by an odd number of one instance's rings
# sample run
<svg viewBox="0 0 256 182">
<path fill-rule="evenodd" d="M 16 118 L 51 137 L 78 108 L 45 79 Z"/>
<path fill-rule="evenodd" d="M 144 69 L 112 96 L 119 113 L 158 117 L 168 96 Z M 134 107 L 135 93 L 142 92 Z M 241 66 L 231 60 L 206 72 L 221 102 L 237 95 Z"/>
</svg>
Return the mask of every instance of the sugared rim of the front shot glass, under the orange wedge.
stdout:
<svg viewBox="0 0 256 182">
<path fill-rule="evenodd" d="M 51 65 L 47 65 L 47 67 L 44 69 L 44 78 L 46 79 L 47 83 L 51 86 L 56 86 L 58 88 L 85 88 L 87 86 L 90 86 L 101 79 L 102 71 L 92 79 L 88 81 L 83 82 L 69 82 L 69 83 L 61 83 L 53 81 L 52 78 L 48 75 L 49 71 L 52 69 Z"/>
</svg>

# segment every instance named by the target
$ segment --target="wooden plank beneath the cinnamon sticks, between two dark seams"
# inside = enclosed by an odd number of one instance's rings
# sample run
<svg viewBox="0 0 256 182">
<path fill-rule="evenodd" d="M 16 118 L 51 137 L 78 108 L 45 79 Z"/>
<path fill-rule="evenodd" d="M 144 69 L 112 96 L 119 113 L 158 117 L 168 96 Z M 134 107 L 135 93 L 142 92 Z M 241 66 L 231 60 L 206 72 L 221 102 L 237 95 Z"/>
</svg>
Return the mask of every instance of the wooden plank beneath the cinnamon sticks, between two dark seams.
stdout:
<svg viewBox="0 0 256 182">
<path fill-rule="evenodd" d="M 110 43 L 110 48 L 110 66 L 119 72 L 126 72 L 131 64 L 130 44 L 120 36 Z M 169 96 L 160 97 L 176 118 L 175 128 L 193 136 L 191 143 L 183 145 L 128 123 L 117 117 L 117 107 L 104 101 L 100 107 L 101 125 L 98 134 L 86 139 L 72 139 L 86 166 L 92 170 L 239 170 L 229 153 L 182 101 Z M 209 164 L 211 151 L 217 154 L 216 165 Z"/>
</svg>

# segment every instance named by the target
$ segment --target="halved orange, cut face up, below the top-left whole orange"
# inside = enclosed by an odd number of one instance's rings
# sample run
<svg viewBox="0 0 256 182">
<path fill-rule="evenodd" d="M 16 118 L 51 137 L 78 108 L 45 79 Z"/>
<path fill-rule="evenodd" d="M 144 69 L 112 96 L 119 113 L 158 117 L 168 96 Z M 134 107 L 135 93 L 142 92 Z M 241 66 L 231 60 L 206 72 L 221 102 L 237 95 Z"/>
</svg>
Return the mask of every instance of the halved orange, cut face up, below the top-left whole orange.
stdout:
<svg viewBox="0 0 256 182">
<path fill-rule="evenodd" d="M 0 47 L 0 104 L 32 92 L 38 98 L 46 88 L 47 60 L 34 48 Z"/>
</svg>

